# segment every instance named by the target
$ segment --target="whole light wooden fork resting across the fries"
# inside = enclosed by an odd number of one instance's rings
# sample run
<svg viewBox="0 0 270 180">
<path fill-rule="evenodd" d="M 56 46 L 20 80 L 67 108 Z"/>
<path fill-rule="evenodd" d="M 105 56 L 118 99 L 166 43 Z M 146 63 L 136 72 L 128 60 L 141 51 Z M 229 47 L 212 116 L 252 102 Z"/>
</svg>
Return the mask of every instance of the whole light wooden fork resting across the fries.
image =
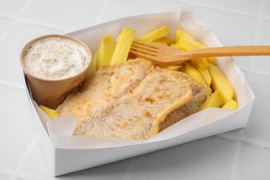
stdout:
<svg viewBox="0 0 270 180">
<path fill-rule="evenodd" d="M 198 57 L 270 55 L 270 46 L 222 46 L 181 51 L 171 46 L 134 41 L 129 52 L 161 66 L 172 66 Z"/>
</svg>

